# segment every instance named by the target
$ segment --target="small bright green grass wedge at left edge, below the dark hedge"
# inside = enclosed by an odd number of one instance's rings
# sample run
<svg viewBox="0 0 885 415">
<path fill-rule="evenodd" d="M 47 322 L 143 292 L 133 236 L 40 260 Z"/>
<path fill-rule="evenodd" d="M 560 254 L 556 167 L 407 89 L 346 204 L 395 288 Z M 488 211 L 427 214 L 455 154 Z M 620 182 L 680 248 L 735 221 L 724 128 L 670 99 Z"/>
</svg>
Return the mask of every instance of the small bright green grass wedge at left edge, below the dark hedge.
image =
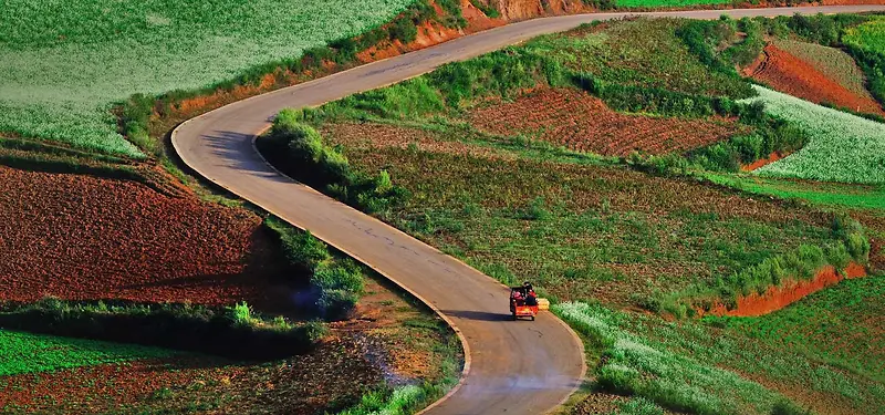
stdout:
<svg viewBox="0 0 885 415">
<path fill-rule="evenodd" d="M 0 330 L 0 376 L 167 357 L 174 352 L 129 344 Z"/>
</svg>

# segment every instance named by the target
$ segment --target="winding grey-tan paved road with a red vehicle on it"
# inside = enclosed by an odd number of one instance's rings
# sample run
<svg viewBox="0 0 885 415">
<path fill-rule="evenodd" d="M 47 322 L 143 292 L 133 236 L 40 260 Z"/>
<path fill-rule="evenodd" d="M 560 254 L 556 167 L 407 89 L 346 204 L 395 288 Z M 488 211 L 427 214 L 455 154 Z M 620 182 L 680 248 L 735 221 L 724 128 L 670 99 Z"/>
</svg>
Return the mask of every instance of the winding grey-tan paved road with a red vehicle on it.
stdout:
<svg viewBox="0 0 885 415">
<path fill-rule="evenodd" d="M 268 166 L 252 141 L 284 107 L 320 105 L 377 89 L 440 64 L 571 29 L 594 20 L 645 14 L 717 19 L 885 10 L 883 6 L 600 13 L 543 18 L 452 40 L 313 82 L 240 101 L 181 124 L 173 145 L 197 173 L 254 205 L 310 229 L 436 309 L 458 331 L 468 356 L 461 384 L 428 414 L 541 414 L 566 398 L 584 375 L 583 346 L 549 313 L 510 322 L 508 290 L 477 270 Z M 428 172 L 433 174 L 433 172 Z"/>
</svg>

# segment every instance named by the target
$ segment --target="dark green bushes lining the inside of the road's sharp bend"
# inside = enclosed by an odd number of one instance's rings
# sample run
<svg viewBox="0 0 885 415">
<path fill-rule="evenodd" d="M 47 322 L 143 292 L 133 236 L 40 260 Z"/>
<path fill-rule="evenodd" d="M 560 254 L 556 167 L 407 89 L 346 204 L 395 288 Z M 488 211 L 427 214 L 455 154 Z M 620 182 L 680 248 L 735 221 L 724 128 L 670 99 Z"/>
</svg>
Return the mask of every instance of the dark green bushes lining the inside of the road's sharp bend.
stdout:
<svg viewBox="0 0 885 415">
<path fill-rule="evenodd" d="M 405 189 L 395 187 L 386 172 L 372 177 L 352 169 L 339 149 L 325 145 L 320 133 L 304 123 L 304 114 L 302 110 L 281 111 L 267 136 L 258 141 L 259 151 L 271 164 L 367 212 L 389 209 L 405 199 Z"/>
</svg>

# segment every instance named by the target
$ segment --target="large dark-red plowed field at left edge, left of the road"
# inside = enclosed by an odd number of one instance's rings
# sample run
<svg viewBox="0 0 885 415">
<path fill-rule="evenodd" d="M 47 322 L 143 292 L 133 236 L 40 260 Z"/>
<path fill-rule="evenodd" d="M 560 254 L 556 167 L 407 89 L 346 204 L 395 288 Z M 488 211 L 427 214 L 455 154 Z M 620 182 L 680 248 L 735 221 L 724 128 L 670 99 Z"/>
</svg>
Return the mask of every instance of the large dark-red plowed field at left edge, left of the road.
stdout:
<svg viewBox="0 0 885 415">
<path fill-rule="evenodd" d="M 260 224 L 133 181 L 0 166 L 0 300 L 258 301 Z"/>
</svg>

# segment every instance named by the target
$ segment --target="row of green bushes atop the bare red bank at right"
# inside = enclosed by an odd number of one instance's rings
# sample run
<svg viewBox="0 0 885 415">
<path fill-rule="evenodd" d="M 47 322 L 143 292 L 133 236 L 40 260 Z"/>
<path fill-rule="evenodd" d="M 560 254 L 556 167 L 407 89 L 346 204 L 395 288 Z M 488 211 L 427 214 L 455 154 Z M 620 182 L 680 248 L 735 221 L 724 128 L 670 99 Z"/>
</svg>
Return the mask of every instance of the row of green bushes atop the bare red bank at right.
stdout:
<svg viewBox="0 0 885 415">
<path fill-rule="evenodd" d="M 711 287 L 695 286 L 683 292 L 660 294 L 643 305 L 659 312 L 684 318 L 696 309 L 709 311 L 716 304 L 737 307 L 740 297 L 764 293 L 788 279 L 809 280 L 824 266 L 844 270 L 852 261 L 865 264 L 870 260 L 870 240 L 856 220 L 837 215 L 832 227 L 835 240 L 821 247 L 802 245 L 798 249 L 763 260 L 761 263 L 720 277 Z"/>
</svg>

